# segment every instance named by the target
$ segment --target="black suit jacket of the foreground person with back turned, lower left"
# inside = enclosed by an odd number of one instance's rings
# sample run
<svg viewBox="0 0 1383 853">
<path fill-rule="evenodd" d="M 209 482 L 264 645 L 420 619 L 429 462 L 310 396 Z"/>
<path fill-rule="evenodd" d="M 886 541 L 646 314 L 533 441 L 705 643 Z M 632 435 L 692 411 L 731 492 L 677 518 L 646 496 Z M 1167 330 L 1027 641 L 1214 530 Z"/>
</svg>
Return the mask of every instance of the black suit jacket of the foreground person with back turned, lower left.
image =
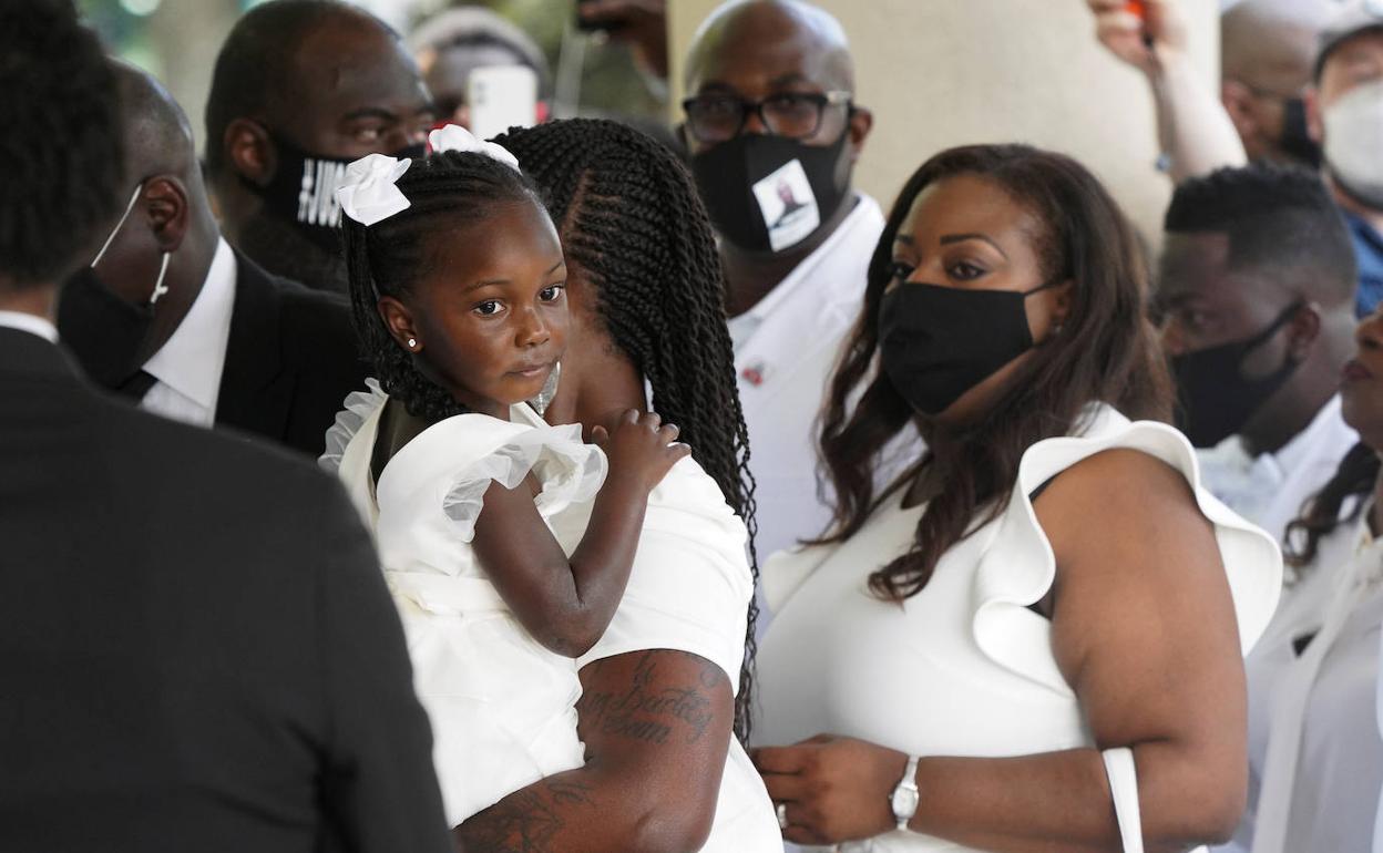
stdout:
<svg viewBox="0 0 1383 853">
<path fill-rule="evenodd" d="M 445 853 L 430 751 L 329 477 L 0 328 L 0 850 Z"/>
</svg>

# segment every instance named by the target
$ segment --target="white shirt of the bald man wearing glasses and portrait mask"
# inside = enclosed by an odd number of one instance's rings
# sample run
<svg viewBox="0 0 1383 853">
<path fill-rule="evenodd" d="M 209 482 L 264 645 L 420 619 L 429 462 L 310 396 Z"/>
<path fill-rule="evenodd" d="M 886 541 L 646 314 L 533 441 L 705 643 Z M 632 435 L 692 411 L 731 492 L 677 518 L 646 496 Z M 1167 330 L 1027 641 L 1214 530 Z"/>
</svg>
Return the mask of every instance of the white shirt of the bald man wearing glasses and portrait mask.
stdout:
<svg viewBox="0 0 1383 853">
<path fill-rule="evenodd" d="M 855 209 L 768 296 L 730 319 L 734 372 L 750 429 L 761 560 L 817 536 L 831 518 L 817 496 L 817 413 L 859 318 L 869 260 L 884 231 L 878 203 Z"/>
</svg>

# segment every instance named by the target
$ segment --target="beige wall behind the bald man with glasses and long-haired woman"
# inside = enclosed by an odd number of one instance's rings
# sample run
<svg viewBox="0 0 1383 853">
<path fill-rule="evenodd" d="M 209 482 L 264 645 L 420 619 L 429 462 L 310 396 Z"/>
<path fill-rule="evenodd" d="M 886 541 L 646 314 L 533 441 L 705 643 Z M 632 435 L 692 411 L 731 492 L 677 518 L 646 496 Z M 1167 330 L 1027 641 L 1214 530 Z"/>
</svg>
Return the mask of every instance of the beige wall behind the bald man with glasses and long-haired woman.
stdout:
<svg viewBox="0 0 1383 853">
<path fill-rule="evenodd" d="M 674 82 L 719 0 L 671 0 Z M 851 37 L 874 131 L 856 184 L 885 207 L 929 155 L 963 142 L 1023 141 L 1091 167 L 1153 242 L 1170 195 L 1153 170 L 1142 76 L 1094 39 L 1083 0 L 817 0 Z M 1182 0 L 1192 51 L 1218 79 L 1218 3 Z M 680 93 L 674 93 L 674 104 Z M 680 109 L 676 120 L 680 120 Z"/>
</svg>

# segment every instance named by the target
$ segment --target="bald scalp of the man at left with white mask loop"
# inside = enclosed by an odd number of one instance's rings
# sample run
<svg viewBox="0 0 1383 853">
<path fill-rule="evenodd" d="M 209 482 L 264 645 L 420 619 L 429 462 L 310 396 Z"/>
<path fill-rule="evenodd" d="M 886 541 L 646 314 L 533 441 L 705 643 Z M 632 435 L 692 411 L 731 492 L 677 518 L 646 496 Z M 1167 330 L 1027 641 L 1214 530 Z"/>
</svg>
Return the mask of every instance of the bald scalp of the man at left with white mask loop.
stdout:
<svg viewBox="0 0 1383 853">
<path fill-rule="evenodd" d="M 124 116 L 124 173 L 134 180 L 151 174 L 184 177 L 196 163 L 187 113 L 144 71 L 119 61 L 112 68 Z"/>
</svg>

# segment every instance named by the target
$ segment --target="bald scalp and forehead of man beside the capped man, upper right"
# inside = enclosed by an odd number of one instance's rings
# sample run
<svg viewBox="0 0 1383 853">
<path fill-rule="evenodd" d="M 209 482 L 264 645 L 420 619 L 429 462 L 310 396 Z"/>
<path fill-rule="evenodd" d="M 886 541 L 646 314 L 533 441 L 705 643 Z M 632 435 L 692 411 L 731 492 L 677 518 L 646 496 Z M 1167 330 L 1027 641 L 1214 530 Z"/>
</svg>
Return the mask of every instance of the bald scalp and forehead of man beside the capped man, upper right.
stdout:
<svg viewBox="0 0 1383 853">
<path fill-rule="evenodd" d="M 1332 0 L 1243 0 L 1220 18 L 1220 66 L 1225 77 L 1278 95 L 1311 80 L 1317 39 Z"/>
</svg>

